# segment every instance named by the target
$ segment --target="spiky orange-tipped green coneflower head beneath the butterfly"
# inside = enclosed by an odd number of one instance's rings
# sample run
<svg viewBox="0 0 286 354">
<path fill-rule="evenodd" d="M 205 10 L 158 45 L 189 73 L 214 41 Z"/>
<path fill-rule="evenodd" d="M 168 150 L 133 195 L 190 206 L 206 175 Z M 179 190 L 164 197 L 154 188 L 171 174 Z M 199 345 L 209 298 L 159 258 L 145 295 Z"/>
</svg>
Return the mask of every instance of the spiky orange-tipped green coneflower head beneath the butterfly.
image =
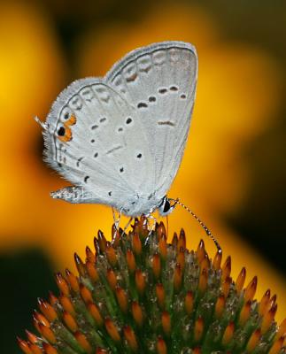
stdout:
<svg viewBox="0 0 286 354">
<path fill-rule="evenodd" d="M 243 288 L 243 268 L 233 281 L 230 257 L 220 266 L 203 241 L 187 250 L 183 230 L 167 243 L 163 223 L 149 235 L 144 218 L 112 235 L 98 232 L 85 263 L 75 254 L 78 277 L 57 273 L 60 294 L 39 299 L 40 337 L 19 339 L 24 353 L 286 353 L 275 296 L 254 300 L 257 278 Z"/>
</svg>

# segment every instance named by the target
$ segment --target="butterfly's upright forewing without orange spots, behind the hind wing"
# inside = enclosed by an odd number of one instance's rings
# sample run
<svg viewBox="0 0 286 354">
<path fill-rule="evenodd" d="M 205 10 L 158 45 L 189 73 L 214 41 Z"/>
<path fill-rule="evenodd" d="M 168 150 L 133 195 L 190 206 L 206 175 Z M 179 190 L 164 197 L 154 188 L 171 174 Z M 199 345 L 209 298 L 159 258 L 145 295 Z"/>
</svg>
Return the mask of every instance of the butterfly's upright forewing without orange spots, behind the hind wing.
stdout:
<svg viewBox="0 0 286 354">
<path fill-rule="evenodd" d="M 134 50 L 105 80 L 132 104 L 151 149 L 151 189 L 166 195 L 181 164 L 197 87 L 197 54 L 185 42 L 160 42 Z"/>
</svg>

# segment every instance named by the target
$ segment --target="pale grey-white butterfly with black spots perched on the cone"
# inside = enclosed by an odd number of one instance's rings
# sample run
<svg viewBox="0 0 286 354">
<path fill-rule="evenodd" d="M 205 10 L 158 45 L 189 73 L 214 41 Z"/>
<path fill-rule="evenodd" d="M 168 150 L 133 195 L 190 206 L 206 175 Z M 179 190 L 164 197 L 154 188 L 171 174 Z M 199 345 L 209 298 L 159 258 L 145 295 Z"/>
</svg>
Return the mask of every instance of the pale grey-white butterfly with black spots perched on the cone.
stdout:
<svg viewBox="0 0 286 354">
<path fill-rule="evenodd" d="M 181 164 L 197 86 L 197 54 L 186 42 L 128 53 L 104 78 L 64 89 L 43 127 L 45 161 L 72 181 L 51 196 L 108 204 L 128 216 L 166 215 Z"/>
</svg>

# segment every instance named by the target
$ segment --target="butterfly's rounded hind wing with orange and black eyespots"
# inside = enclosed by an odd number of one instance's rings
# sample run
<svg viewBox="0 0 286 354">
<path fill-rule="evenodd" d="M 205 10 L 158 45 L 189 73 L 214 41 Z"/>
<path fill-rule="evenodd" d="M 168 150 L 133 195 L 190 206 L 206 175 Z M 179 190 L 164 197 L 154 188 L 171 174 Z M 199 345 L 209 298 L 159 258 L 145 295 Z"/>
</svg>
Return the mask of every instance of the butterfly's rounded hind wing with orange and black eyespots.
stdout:
<svg viewBox="0 0 286 354">
<path fill-rule="evenodd" d="M 45 127 L 45 159 L 84 191 L 76 193 L 77 203 L 121 209 L 148 179 L 151 155 L 142 122 L 103 80 L 74 81 L 58 96 Z M 56 197 L 73 201 L 66 196 L 70 189 Z"/>
</svg>

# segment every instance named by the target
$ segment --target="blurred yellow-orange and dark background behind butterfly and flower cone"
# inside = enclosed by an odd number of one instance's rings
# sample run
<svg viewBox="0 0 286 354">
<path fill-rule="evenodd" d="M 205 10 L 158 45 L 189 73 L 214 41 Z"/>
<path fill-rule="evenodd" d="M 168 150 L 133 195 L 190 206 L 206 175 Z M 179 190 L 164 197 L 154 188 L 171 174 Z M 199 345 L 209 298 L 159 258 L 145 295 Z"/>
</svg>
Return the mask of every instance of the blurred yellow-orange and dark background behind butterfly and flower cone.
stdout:
<svg viewBox="0 0 286 354">
<path fill-rule="evenodd" d="M 100 76 L 128 50 L 163 40 L 197 47 L 197 101 L 182 167 L 169 196 L 180 196 L 218 235 L 234 277 L 259 276 L 258 297 L 278 295 L 286 315 L 282 156 L 286 115 L 286 4 L 240 1 L 0 1 L 0 338 L 31 328 L 37 296 L 53 272 L 73 269 L 97 228 L 110 237 L 112 212 L 50 199 L 67 183 L 42 161 L 35 124 L 71 81 Z M 124 222 L 124 221 L 122 221 Z M 203 231 L 179 208 L 189 247 Z M 211 256 L 213 243 L 205 240 Z"/>
</svg>

